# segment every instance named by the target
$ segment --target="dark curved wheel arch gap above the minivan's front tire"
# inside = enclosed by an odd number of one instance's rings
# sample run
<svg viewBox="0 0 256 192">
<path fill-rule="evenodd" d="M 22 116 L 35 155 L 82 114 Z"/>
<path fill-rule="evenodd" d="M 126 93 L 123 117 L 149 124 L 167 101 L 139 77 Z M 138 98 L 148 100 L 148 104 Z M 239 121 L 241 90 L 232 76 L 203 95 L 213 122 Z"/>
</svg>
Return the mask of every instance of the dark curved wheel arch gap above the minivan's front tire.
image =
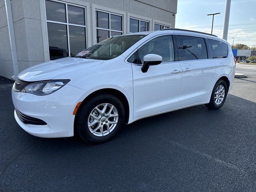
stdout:
<svg viewBox="0 0 256 192">
<path fill-rule="evenodd" d="M 74 125 L 75 125 L 76 119 L 77 119 L 78 115 L 80 114 L 82 108 L 86 105 L 86 102 L 88 100 L 90 100 L 91 98 L 93 98 L 95 95 L 103 94 L 103 93 L 112 94 L 113 96 L 116 96 L 118 99 L 120 99 L 120 101 L 122 102 L 122 104 L 124 106 L 124 115 L 125 115 L 124 122 L 126 124 L 128 123 L 129 115 L 130 115 L 130 107 L 129 107 L 129 102 L 128 102 L 128 99 L 126 98 L 126 96 L 120 90 L 117 90 L 114 88 L 102 88 L 102 89 L 99 89 L 99 90 L 96 90 L 96 91 L 90 93 L 86 98 L 84 98 L 84 100 L 78 107 L 78 110 L 76 111 Z"/>
</svg>

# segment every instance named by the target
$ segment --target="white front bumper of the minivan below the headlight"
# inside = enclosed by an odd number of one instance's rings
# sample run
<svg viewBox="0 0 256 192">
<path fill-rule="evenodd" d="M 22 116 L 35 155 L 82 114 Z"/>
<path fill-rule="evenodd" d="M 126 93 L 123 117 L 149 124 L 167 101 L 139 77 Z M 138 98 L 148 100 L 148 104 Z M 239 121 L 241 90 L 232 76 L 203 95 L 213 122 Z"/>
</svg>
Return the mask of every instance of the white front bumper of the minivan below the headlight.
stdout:
<svg viewBox="0 0 256 192">
<path fill-rule="evenodd" d="M 12 90 L 12 102 L 19 112 L 43 120 L 47 124 L 24 124 L 18 118 L 16 110 L 14 110 L 14 117 L 26 132 L 34 136 L 44 138 L 74 136 L 75 116 L 72 113 L 76 104 L 82 101 L 86 94 L 88 92 L 85 90 L 68 84 L 46 96 Z"/>
</svg>

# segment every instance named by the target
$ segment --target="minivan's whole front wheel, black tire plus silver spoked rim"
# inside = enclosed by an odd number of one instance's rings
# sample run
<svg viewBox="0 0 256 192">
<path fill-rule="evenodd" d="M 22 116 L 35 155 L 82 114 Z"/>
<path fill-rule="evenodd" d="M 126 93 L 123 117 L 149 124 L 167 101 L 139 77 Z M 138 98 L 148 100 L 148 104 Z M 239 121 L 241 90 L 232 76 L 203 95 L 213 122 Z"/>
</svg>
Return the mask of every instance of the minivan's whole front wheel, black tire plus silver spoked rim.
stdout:
<svg viewBox="0 0 256 192">
<path fill-rule="evenodd" d="M 106 109 L 103 112 L 105 106 Z M 124 106 L 112 94 L 99 94 L 88 100 L 82 107 L 76 118 L 75 128 L 80 138 L 88 143 L 98 144 L 109 140 L 124 125 Z M 99 110 L 96 110 L 96 107 Z M 112 111 L 110 111 L 111 108 Z M 93 125 L 90 126 L 90 124 Z"/>
</svg>

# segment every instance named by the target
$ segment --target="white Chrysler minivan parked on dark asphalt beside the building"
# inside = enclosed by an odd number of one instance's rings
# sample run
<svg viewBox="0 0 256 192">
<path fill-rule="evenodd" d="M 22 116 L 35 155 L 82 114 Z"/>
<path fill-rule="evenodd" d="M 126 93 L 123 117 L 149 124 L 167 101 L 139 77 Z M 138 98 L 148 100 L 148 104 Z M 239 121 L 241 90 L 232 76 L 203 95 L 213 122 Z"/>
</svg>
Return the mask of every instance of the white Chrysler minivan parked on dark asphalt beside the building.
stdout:
<svg viewBox="0 0 256 192">
<path fill-rule="evenodd" d="M 14 116 L 34 136 L 78 134 L 99 143 L 141 118 L 220 108 L 235 67 L 230 44 L 214 35 L 171 28 L 125 34 L 22 71 L 12 88 Z"/>
</svg>

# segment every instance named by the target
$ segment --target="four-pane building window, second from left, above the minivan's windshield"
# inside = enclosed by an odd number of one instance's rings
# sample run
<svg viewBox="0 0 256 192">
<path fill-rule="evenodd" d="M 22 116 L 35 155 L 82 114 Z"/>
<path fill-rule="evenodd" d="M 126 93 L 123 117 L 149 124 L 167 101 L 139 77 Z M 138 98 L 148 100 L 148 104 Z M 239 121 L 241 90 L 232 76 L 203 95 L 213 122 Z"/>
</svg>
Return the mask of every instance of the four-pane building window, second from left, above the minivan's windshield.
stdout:
<svg viewBox="0 0 256 192">
<path fill-rule="evenodd" d="M 96 11 L 97 43 L 122 34 L 122 16 Z"/>
</svg>

